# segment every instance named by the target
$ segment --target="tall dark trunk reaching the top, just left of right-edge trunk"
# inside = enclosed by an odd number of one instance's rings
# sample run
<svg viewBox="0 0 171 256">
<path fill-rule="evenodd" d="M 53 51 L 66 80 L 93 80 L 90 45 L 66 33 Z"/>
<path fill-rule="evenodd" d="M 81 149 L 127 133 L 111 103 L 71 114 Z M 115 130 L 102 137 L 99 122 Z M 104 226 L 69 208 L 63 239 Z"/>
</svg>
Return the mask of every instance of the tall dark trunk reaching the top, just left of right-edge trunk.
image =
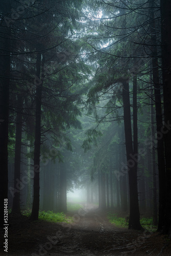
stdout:
<svg viewBox="0 0 171 256">
<path fill-rule="evenodd" d="M 159 81 L 159 65 L 158 65 L 158 52 L 157 52 L 157 38 L 156 38 L 156 26 L 155 26 L 155 14 L 154 14 L 154 2 L 149 2 L 149 14 L 151 17 L 151 40 L 152 40 L 152 70 L 153 70 L 153 84 L 156 106 L 156 124 L 157 124 L 157 156 L 158 156 L 158 170 L 159 170 L 159 221 L 158 231 L 162 230 L 164 225 L 164 209 L 165 209 L 165 159 L 164 159 L 164 140 L 162 131 L 162 104 L 160 93 L 160 81 Z"/>
</svg>

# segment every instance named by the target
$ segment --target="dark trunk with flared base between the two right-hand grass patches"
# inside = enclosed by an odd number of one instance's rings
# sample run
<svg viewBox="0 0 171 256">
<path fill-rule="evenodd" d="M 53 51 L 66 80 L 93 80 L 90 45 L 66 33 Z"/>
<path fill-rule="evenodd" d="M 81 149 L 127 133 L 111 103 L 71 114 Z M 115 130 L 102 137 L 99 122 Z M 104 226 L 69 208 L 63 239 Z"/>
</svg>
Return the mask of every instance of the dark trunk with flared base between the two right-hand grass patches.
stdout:
<svg viewBox="0 0 171 256">
<path fill-rule="evenodd" d="M 123 86 L 123 119 L 125 131 L 126 159 L 129 173 L 130 186 L 130 219 L 129 228 L 142 230 L 140 224 L 140 212 L 138 205 L 138 188 L 137 188 L 137 155 L 133 152 L 132 128 L 131 128 L 131 110 L 130 110 L 130 91 L 129 82 L 124 80 Z M 134 128 L 135 129 L 135 128 Z M 134 137 L 134 143 L 136 138 Z M 136 152 L 136 147 L 135 147 Z"/>
</svg>

